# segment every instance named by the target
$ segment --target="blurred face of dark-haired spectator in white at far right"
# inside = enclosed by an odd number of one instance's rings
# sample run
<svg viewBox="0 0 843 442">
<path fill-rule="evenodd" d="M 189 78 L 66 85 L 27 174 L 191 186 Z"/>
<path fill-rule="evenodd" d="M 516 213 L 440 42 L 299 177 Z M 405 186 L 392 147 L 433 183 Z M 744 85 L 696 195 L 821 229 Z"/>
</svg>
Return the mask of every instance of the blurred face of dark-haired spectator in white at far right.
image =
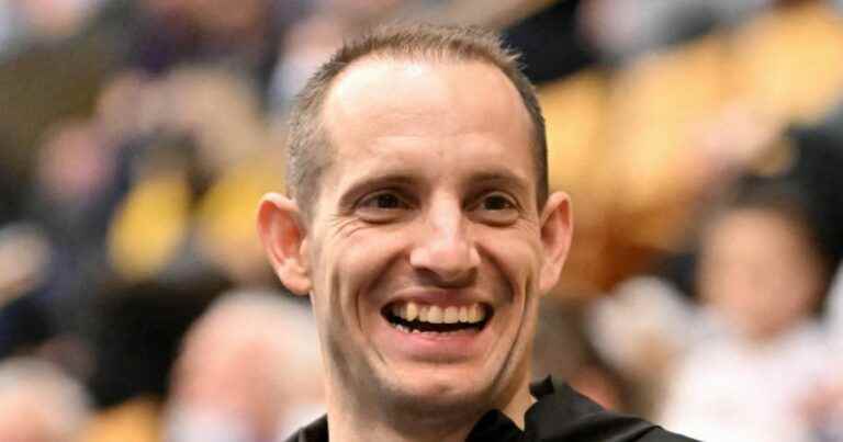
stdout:
<svg viewBox="0 0 843 442">
<path fill-rule="evenodd" d="M 772 211 L 740 208 L 709 228 L 700 293 L 744 339 L 764 342 L 810 316 L 821 269 L 803 226 Z"/>
</svg>

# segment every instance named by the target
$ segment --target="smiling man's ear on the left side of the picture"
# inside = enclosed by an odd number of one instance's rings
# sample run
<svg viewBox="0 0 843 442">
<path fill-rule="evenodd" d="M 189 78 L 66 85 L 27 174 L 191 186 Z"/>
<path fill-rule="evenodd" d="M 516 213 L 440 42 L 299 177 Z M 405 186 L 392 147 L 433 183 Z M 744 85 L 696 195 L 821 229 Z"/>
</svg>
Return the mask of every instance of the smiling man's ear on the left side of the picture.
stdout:
<svg viewBox="0 0 843 442">
<path fill-rule="evenodd" d="M 311 292 L 307 237 L 295 201 L 267 193 L 258 207 L 258 233 L 281 282 L 296 295 Z"/>
</svg>

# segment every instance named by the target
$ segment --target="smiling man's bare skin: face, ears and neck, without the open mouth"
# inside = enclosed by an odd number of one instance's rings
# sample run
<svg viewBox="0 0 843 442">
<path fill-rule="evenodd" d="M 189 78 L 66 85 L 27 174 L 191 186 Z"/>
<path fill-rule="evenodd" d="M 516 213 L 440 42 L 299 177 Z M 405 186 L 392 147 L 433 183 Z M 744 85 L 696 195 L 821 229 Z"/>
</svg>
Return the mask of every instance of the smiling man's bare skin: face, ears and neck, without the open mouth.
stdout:
<svg viewBox="0 0 843 442">
<path fill-rule="evenodd" d="M 538 301 L 572 225 L 563 193 L 537 206 L 517 91 L 482 63 L 369 57 L 323 118 L 336 151 L 311 219 L 271 193 L 258 227 L 282 282 L 312 298 L 331 440 L 464 440 L 493 408 L 521 424 Z M 411 336 L 381 314 L 408 299 L 493 313 L 480 332 Z"/>
</svg>

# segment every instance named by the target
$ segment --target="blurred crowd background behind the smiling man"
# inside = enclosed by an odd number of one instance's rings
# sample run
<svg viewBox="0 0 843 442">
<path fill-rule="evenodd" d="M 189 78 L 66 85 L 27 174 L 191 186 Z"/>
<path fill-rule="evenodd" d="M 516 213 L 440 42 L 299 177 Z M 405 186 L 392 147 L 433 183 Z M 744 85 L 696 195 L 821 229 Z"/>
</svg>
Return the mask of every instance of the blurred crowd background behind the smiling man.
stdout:
<svg viewBox="0 0 843 442">
<path fill-rule="evenodd" d="M 323 410 L 254 231 L 373 24 L 499 30 L 574 201 L 535 375 L 711 441 L 843 441 L 843 1 L 0 0 L 0 441 L 280 441 Z"/>
</svg>

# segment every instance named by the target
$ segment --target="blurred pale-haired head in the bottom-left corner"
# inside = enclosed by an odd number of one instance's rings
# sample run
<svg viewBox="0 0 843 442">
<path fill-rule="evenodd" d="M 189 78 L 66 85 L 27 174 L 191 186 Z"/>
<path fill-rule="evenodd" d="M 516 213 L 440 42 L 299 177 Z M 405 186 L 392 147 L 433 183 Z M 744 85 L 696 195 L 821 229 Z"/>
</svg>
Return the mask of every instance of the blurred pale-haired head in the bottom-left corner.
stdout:
<svg viewBox="0 0 843 442">
<path fill-rule="evenodd" d="M 81 385 L 32 359 L 0 363 L 0 440 L 76 442 L 90 418 Z"/>
</svg>

